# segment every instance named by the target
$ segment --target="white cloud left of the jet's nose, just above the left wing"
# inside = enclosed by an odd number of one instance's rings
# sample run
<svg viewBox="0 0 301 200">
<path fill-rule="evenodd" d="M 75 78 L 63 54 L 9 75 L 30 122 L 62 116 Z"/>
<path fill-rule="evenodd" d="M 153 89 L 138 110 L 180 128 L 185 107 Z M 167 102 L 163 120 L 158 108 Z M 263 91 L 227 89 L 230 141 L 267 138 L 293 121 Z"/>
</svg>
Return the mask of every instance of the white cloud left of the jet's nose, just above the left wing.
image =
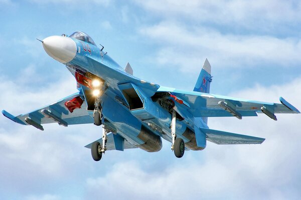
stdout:
<svg viewBox="0 0 301 200">
<path fill-rule="evenodd" d="M 13 114 L 32 111 L 78 91 L 75 78 L 71 74 L 67 78 L 58 75 L 56 81 L 44 82 L 36 86 L 33 83 L 42 82 L 42 79 L 46 78 L 35 76 L 34 65 L 29 65 L 21 72 L 16 79 L 1 76 L 5 81 L 0 84 L 0 89 L 3 91 L 0 96 L 0 107 Z M 36 78 L 38 79 L 34 80 Z"/>
</svg>

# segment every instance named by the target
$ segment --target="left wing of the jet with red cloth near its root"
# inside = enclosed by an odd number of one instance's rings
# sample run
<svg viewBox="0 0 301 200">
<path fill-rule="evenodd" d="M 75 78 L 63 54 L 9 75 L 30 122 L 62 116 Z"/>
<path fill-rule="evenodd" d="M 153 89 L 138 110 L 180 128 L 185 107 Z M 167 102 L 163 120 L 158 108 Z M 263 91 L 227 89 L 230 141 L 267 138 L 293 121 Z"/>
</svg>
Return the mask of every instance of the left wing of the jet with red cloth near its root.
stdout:
<svg viewBox="0 0 301 200">
<path fill-rule="evenodd" d="M 81 98 L 80 92 L 62 98 L 54 103 L 36 109 L 27 114 L 14 116 L 2 110 L 2 113 L 11 120 L 24 124 L 33 125 L 44 130 L 41 124 L 59 123 L 68 126 L 70 124 L 93 123 L 93 117 L 87 111 L 87 104 Z"/>
</svg>

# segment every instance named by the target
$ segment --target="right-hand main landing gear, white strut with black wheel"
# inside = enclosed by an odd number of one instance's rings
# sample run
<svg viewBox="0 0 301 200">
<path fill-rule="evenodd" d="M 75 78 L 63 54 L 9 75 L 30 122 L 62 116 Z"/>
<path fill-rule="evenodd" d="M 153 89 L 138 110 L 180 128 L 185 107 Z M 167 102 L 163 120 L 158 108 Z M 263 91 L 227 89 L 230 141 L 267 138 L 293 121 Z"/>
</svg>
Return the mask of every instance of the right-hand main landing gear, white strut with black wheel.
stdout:
<svg viewBox="0 0 301 200">
<path fill-rule="evenodd" d="M 176 135 L 176 111 L 173 109 L 172 112 L 172 123 L 171 123 L 171 130 L 172 130 L 172 150 L 174 151 L 176 157 L 183 157 L 185 152 L 185 143 L 182 138 L 177 138 Z"/>
</svg>

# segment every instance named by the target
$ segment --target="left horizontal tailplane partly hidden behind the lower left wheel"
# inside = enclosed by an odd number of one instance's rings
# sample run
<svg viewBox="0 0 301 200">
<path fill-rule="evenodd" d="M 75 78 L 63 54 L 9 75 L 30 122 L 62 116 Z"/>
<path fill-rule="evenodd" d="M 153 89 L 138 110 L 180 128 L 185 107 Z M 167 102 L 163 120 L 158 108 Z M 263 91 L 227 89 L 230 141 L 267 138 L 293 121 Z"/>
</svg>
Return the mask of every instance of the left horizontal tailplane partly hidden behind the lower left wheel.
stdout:
<svg viewBox="0 0 301 200">
<path fill-rule="evenodd" d="M 107 134 L 107 142 L 106 142 L 107 150 L 123 150 L 123 149 L 129 149 L 129 148 L 137 148 L 135 145 L 133 145 L 132 143 L 130 143 L 129 141 L 127 141 L 125 139 L 123 140 L 124 143 L 123 143 L 122 148 L 120 148 L 120 140 L 119 140 L 120 137 L 121 136 L 119 134 L 108 133 Z M 98 141 L 100 144 L 102 144 L 102 138 L 99 138 L 96 141 Z M 85 147 L 91 148 L 92 143 L 89 143 Z"/>
</svg>

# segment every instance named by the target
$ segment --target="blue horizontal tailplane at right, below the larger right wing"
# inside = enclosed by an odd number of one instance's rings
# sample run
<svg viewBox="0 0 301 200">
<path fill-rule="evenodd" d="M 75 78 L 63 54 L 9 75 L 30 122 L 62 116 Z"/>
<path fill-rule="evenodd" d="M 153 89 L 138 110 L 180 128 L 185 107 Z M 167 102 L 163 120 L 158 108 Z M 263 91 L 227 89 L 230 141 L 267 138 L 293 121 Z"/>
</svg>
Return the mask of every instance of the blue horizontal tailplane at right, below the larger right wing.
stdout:
<svg viewBox="0 0 301 200">
<path fill-rule="evenodd" d="M 209 128 L 200 128 L 207 135 L 207 140 L 216 144 L 261 144 L 265 139 Z"/>
</svg>

